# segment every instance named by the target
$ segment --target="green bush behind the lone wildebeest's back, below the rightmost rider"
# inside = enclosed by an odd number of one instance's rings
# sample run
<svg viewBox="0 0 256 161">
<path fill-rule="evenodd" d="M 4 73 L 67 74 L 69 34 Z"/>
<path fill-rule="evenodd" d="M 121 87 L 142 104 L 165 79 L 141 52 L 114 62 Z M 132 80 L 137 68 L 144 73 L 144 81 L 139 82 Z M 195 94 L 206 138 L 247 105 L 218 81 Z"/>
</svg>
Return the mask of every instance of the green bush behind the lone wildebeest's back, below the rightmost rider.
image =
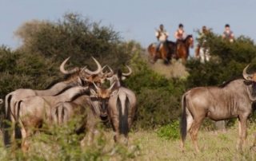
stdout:
<svg viewBox="0 0 256 161">
<path fill-rule="evenodd" d="M 186 67 L 190 76 L 186 88 L 218 85 L 242 77 L 242 69 L 248 64 L 255 66 L 256 46 L 248 37 L 238 37 L 234 43 L 223 41 L 214 33 L 206 35 L 206 47 L 211 61 L 205 64 L 189 61 Z"/>
</svg>

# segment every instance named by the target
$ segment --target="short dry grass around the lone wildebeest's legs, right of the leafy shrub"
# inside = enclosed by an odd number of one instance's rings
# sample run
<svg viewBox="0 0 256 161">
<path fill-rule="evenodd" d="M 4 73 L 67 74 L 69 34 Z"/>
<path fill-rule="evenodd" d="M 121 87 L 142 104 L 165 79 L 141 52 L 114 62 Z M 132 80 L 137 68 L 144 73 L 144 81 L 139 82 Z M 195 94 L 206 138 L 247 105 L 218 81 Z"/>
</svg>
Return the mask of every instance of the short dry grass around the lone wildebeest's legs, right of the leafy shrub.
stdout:
<svg viewBox="0 0 256 161">
<path fill-rule="evenodd" d="M 186 151 L 180 150 L 179 140 L 158 138 L 155 132 L 136 132 L 130 135 L 132 142 L 136 140 L 141 147 L 140 154 L 135 160 L 255 160 L 255 151 L 250 150 L 254 140 L 254 129 L 250 129 L 246 146 L 242 153 L 236 151 L 238 139 L 237 128 L 227 132 L 203 132 L 198 134 L 201 152 L 194 151 L 190 137 L 186 139 Z"/>
</svg>

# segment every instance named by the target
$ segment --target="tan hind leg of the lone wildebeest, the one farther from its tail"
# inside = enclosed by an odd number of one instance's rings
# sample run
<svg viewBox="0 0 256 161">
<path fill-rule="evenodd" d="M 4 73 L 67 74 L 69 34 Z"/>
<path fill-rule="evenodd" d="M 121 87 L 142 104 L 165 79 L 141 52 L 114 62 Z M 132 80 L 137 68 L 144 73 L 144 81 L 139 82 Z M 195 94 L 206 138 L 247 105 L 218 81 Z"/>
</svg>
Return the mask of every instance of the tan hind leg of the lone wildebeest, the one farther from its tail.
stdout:
<svg viewBox="0 0 256 161">
<path fill-rule="evenodd" d="M 194 119 L 194 122 L 190 129 L 190 136 L 191 136 L 192 142 L 194 144 L 195 150 L 197 152 L 200 152 L 199 147 L 198 147 L 198 130 L 202 124 L 203 119 L 204 119 L 203 117 L 199 118 L 199 119 Z"/>
</svg>

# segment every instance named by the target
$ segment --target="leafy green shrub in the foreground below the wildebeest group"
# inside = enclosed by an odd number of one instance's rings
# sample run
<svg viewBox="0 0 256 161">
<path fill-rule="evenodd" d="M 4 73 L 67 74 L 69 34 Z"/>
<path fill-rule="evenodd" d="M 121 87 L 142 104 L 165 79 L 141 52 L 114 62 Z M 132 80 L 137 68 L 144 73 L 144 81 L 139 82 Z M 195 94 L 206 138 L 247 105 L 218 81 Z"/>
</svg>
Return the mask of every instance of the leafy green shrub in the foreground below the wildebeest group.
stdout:
<svg viewBox="0 0 256 161">
<path fill-rule="evenodd" d="M 77 118 L 70 120 L 63 126 L 44 125 L 40 133 L 27 139 L 30 148 L 23 153 L 20 148 L 13 151 L 11 148 L 0 147 L 1 160 L 109 160 L 133 159 L 138 156 L 140 147 L 131 144 L 126 147 L 122 144 L 113 144 L 103 129 L 98 126 L 98 133 L 91 145 L 82 146 L 81 140 L 86 133 L 75 134 L 74 128 L 78 124 Z M 87 137 L 88 135 L 86 135 Z M 87 141 L 87 139 L 85 139 Z"/>
</svg>

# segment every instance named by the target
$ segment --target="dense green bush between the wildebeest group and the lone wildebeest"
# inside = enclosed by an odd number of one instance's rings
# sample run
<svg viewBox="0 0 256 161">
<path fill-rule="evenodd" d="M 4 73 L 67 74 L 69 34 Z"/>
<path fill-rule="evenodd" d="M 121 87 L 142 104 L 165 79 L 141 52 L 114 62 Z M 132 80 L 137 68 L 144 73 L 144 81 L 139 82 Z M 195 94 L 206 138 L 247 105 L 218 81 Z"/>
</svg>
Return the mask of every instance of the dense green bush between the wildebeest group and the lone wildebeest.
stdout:
<svg viewBox="0 0 256 161">
<path fill-rule="evenodd" d="M 184 92 L 184 82 L 178 79 L 166 79 L 155 73 L 141 58 L 137 57 L 136 61 L 139 61 L 134 67 L 137 70 L 125 83 L 137 96 L 137 126 L 154 128 L 158 125 L 170 124 L 181 113 L 179 102 Z"/>
</svg>

